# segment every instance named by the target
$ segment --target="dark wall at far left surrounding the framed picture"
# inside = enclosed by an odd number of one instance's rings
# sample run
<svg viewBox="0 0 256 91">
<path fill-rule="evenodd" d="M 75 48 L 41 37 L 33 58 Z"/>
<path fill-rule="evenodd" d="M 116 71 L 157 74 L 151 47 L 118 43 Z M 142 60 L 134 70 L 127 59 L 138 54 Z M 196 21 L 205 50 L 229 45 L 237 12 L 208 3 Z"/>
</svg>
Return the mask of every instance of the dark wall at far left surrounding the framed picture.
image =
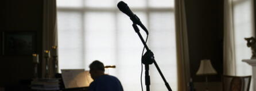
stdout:
<svg viewBox="0 0 256 91">
<path fill-rule="evenodd" d="M 33 77 L 32 55 L 2 55 L 3 32 L 36 32 L 36 51 L 42 52 L 42 0 L 2 0 L 0 3 L 0 87 Z M 41 71 L 41 70 L 39 70 Z M 39 72 L 40 73 L 40 72 Z"/>
</svg>

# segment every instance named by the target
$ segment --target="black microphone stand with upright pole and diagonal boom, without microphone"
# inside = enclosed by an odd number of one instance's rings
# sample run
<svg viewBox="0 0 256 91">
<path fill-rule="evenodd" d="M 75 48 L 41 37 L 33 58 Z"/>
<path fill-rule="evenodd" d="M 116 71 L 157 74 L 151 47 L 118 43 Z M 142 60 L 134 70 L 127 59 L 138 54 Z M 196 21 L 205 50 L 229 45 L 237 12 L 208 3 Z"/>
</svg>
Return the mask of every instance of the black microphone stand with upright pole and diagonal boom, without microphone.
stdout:
<svg viewBox="0 0 256 91">
<path fill-rule="evenodd" d="M 145 84 L 146 84 L 146 91 L 150 91 L 149 85 L 150 85 L 150 76 L 149 76 L 149 65 L 153 64 L 156 66 L 157 71 L 160 73 L 162 80 L 165 82 L 165 86 L 169 91 L 172 91 L 170 89 L 170 86 L 168 82 L 165 80 L 164 75 L 162 75 L 162 72 L 160 68 L 158 67 L 156 60 L 154 60 L 154 54 L 152 51 L 150 51 L 149 47 L 145 43 L 145 40 L 142 38 L 141 33 L 139 32 L 139 28 L 137 26 L 137 23 L 133 22 L 133 28 L 135 32 L 137 32 L 139 39 L 141 39 L 141 42 L 143 43 L 144 47 L 146 48 L 146 53 L 142 56 L 142 63 L 145 65 Z"/>
</svg>

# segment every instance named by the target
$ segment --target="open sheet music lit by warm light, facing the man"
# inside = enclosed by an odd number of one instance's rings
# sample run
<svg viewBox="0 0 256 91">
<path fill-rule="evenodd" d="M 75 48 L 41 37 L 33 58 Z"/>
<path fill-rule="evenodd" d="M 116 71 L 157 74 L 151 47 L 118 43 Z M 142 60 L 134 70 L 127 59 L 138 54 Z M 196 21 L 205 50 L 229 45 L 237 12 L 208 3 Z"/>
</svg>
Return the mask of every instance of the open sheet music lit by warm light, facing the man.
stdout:
<svg viewBox="0 0 256 91">
<path fill-rule="evenodd" d="M 86 87 L 92 82 L 90 73 L 84 69 L 61 69 L 61 74 L 65 88 Z"/>
</svg>

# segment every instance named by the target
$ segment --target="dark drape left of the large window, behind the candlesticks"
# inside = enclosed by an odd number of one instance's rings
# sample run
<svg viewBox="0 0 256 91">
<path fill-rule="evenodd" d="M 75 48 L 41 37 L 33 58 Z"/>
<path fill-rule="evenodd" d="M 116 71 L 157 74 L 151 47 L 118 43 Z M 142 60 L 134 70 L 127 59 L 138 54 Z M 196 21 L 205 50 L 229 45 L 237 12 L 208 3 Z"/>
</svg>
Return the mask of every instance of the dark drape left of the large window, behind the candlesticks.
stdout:
<svg viewBox="0 0 256 91">
<path fill-rule="evenodd" d="M 45 59 L 44 50 L 51 51 L 52 46 L 57 46 L 57 18 L 56 18 L 56 0 L 44 0 L 44 16 L 42 31 L 42 77 L 45 77 Z M 49 76 L 54 77 L 54 65 L 52 59 L 49 61 Z"/>
</svg>

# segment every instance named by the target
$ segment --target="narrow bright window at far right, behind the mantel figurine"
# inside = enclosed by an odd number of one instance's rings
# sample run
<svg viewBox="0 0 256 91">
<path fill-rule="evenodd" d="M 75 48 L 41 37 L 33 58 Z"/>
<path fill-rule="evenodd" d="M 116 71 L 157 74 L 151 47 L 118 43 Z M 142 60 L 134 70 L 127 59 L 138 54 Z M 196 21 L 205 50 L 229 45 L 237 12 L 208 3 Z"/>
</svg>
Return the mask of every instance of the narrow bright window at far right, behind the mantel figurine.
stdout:
<svg viewBox="0 0 256 91">
<path fill-rule="evenodd" d="M 235 37 L 235 62 L 236 62 L 236 75 L 249 76 L 252 75 L 251 66 L 243 59 L 250 59 L 251 49 L 246 46 L 246 40 L 254 36 L 253 28 L 253 1 L 251 0 L 234 0 L 233 5 L 233 28 Z M 246 69 L 246 70 L 245 70 Z M 251 81 L 250 90 L 253 90 L 253 84 Z"/>
</svg>

